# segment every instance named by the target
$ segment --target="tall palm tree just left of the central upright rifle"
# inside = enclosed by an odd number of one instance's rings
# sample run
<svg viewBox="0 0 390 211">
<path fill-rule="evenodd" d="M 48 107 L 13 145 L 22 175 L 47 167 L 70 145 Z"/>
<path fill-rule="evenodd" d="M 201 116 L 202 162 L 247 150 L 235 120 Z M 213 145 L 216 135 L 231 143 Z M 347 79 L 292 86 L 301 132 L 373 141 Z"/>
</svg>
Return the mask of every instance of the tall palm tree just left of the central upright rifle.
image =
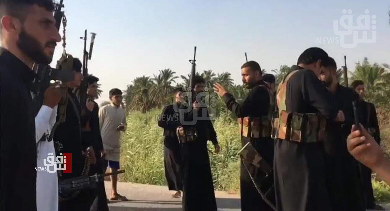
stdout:
<svg viewBox="0 0 390 211">
<path fill-rule="evenodd" d="M 154 104 L 161 106 L 167 96 L 171 94 L 174 88 L 171 84 L 175 83 L 175 80 L 179 77 L 174 76 L 176 72 L 170 69 L 159 70 L 160 74 L 153 74 L 152 81 L 154 85 L 151 89 L 151 100 Z"/>
</svg>

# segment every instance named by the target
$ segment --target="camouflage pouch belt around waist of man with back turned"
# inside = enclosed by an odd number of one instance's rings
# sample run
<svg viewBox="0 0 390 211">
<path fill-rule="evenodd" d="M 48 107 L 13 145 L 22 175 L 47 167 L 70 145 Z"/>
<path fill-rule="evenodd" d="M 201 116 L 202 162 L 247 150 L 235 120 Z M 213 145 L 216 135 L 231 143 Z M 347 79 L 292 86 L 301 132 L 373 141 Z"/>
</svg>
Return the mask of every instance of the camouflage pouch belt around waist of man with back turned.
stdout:
<svg viewBox="0 0 390 211">
<path fill-rule="evenodd" d="M 271 125 L 273 139 L 312 143 L 324 140 L 326 119 L 316 113 L 281 111 L 278 118 L 272 118 Z"/>
</svg>

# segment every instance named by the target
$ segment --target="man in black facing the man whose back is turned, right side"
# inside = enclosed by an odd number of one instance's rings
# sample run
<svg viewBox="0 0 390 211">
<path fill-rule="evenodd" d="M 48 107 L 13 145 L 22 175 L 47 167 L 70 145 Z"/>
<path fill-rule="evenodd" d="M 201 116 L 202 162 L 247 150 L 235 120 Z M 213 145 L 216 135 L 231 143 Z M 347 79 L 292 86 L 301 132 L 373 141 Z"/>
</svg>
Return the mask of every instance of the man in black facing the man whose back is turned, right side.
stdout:
<svg viewBox="0 0 390 211">
<path fill-rule="evenodd" d="M 359 96 L 354 90 L 339 84 L 336 62 L 331 57 L 329 59 L 328 71 L 321 74 L 320 80 L 332 93 L 335 108 L 344 112 L 345 121 L 328 122 L 329 135 L 324 142 L 328 190 L 334 211 L 365 211 L 359 163 L 349 154 L 345 141 L 355 124 L 352 102 L 358 101 Z"/>
</svg>

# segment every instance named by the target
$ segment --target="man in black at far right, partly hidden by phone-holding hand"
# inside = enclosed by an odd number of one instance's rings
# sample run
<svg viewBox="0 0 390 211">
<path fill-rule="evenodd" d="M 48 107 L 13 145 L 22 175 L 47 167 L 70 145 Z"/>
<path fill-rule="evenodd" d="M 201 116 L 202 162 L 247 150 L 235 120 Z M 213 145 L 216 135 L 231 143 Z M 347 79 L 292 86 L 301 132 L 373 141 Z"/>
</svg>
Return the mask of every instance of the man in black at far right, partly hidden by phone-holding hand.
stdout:
<svg viewBox="0 0 390 211">
<path fill-rule="evenodd" d="M 365 101 L 364 82 L 355 80 L 351 87 L 359 94 L 359 121 L 367 129 L 378 145 L 381 143 L 381 134 L 379 131 L 378 118 L 376 116 L 375 105 Z M 371 183 L 372 170 L 363 164 L 360 164 L 360 176 L 363 183 L 363 199 L 367 209 L 385 210 L 382 206 L 375 203 L 374 191 Z"/>
</svg>

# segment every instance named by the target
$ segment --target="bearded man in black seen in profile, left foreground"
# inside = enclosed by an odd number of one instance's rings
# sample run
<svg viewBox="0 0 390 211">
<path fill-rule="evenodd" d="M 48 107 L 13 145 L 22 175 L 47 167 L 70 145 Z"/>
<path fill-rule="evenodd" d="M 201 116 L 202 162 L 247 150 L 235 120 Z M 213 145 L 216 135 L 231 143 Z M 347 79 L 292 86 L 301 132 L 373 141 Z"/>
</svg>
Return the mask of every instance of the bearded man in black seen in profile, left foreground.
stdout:
<svg viewBox="0 0 390 211">
<path fill-rule="evenodd" d="M 0 210 L 36 211 L 32 66 L 50 64 L 61 37 L 54 25 L 51 1 L 1 1 L 0 7 Z M 47 20 L 46 24 L 41 19 Z"/>
</svg>

